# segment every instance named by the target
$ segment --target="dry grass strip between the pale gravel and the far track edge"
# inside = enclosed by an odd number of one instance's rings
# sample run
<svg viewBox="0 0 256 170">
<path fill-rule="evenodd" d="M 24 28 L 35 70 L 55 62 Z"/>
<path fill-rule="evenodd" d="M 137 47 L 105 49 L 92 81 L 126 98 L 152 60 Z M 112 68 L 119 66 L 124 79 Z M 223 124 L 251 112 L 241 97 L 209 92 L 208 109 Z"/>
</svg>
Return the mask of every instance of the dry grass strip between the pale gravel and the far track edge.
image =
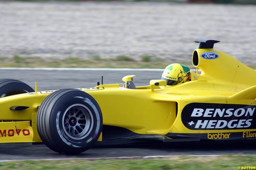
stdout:
<svg viewBox="0 0 256 170">
<path fill-rule="evenodd" d="M 64 59 L 43 59 L 41 57 L 0 57 L 0 67 L 50 67 L 50 68 L 157 68 L 164 69 L 171 63 L 187 64 L 192 68 L 192 63 L 182 61 L 165 61 L 154 56 L 141 56 L 139 60 L 121 55 L 116 58 L 102 59 L 94 56 L 91 59 L 66 57 Z"/>
</svg>

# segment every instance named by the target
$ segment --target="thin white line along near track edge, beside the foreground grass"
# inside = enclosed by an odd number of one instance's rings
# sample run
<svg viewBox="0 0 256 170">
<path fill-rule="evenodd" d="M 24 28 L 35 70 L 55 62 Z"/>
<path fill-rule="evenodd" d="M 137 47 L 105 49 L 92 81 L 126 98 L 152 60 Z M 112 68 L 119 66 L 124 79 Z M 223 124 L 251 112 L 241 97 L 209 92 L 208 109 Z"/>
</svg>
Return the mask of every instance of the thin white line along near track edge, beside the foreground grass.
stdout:
<svg viewBox="0 0 256 170">
<path fill-rule="evenodd" d="M 172 158 L 172 157 L 182 157 L 182 156 L 191 156 L 191 157 L 219 157 L 219 156 L 227 156 L 227 155 L 156 155 L 156 156 L 125 156 L 125 157 L 100 157 L 100 158 L 60 158 L 60 159 L 20 159 L 20 160 L 0 160 L 1 162 L 14 162 L 14 161 L 24 161 L 24 160 L 73 160 L 73 159 L 83 159 L 83 160 L 92 160 L 92 159 L 150 159 L 150 158 Z M 228 155 L 228 156 L 256 156 L 256 155 Z"/>
</svg>

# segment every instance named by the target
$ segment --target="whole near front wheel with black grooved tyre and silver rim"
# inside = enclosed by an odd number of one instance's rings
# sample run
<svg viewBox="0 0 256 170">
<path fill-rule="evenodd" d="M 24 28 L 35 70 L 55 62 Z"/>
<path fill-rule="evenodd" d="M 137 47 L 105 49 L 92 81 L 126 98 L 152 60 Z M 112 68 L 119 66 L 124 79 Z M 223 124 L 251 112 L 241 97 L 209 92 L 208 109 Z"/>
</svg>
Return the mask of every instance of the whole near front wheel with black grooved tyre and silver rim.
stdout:
<svg viewBox="0 0 256 170">
<path fill-rule="evenodd" d="M 102 114 L 91 95 L 81 90 L 62 89 L 44 99 L 36 124 L 39 136 L 50 149 L 77 154 L 91 148 L 98 140 Z"/>
</svg>

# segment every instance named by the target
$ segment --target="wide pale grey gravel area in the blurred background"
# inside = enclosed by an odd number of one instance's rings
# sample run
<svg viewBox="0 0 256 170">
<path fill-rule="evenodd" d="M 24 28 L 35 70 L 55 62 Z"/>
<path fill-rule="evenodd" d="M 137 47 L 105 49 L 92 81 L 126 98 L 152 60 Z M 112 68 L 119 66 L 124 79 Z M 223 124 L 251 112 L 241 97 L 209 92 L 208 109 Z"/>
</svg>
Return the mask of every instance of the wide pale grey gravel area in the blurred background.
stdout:
<svg viewBox="0 0 256 170">
<path fill-rule="evenodd" d="M 190 62 L 197 38 L 256 64 L 256 5 L 0 1 L 0 57 L 150 55 Z"/>
</svg>

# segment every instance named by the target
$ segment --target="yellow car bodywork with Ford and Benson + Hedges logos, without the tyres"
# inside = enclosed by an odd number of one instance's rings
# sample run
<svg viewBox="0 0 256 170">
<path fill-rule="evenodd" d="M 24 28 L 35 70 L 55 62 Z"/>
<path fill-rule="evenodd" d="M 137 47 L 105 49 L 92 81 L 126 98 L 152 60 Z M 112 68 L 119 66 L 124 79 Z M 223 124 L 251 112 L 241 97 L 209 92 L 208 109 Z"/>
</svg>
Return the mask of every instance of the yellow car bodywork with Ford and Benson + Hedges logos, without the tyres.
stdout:
<svg viewBox="0 0 256 170">
<path fill-rule="evenodd" d="M 103 127 L 96 144 L 256 139 L 256 72 L 213 49 L 214 40 L 196 40 L 191 81 L 166 86 L 151 80 L 136 88 L 120 84 L 79 90 L 99 104 Z M 198 73 L 198 70 L 201 73 Z M 132 77 L 123 78 L 125 84 Z M 36 116 L 53 91 L 30 92 L 0 99 L 0 143 L 44 142 Z"/>
</svg>

